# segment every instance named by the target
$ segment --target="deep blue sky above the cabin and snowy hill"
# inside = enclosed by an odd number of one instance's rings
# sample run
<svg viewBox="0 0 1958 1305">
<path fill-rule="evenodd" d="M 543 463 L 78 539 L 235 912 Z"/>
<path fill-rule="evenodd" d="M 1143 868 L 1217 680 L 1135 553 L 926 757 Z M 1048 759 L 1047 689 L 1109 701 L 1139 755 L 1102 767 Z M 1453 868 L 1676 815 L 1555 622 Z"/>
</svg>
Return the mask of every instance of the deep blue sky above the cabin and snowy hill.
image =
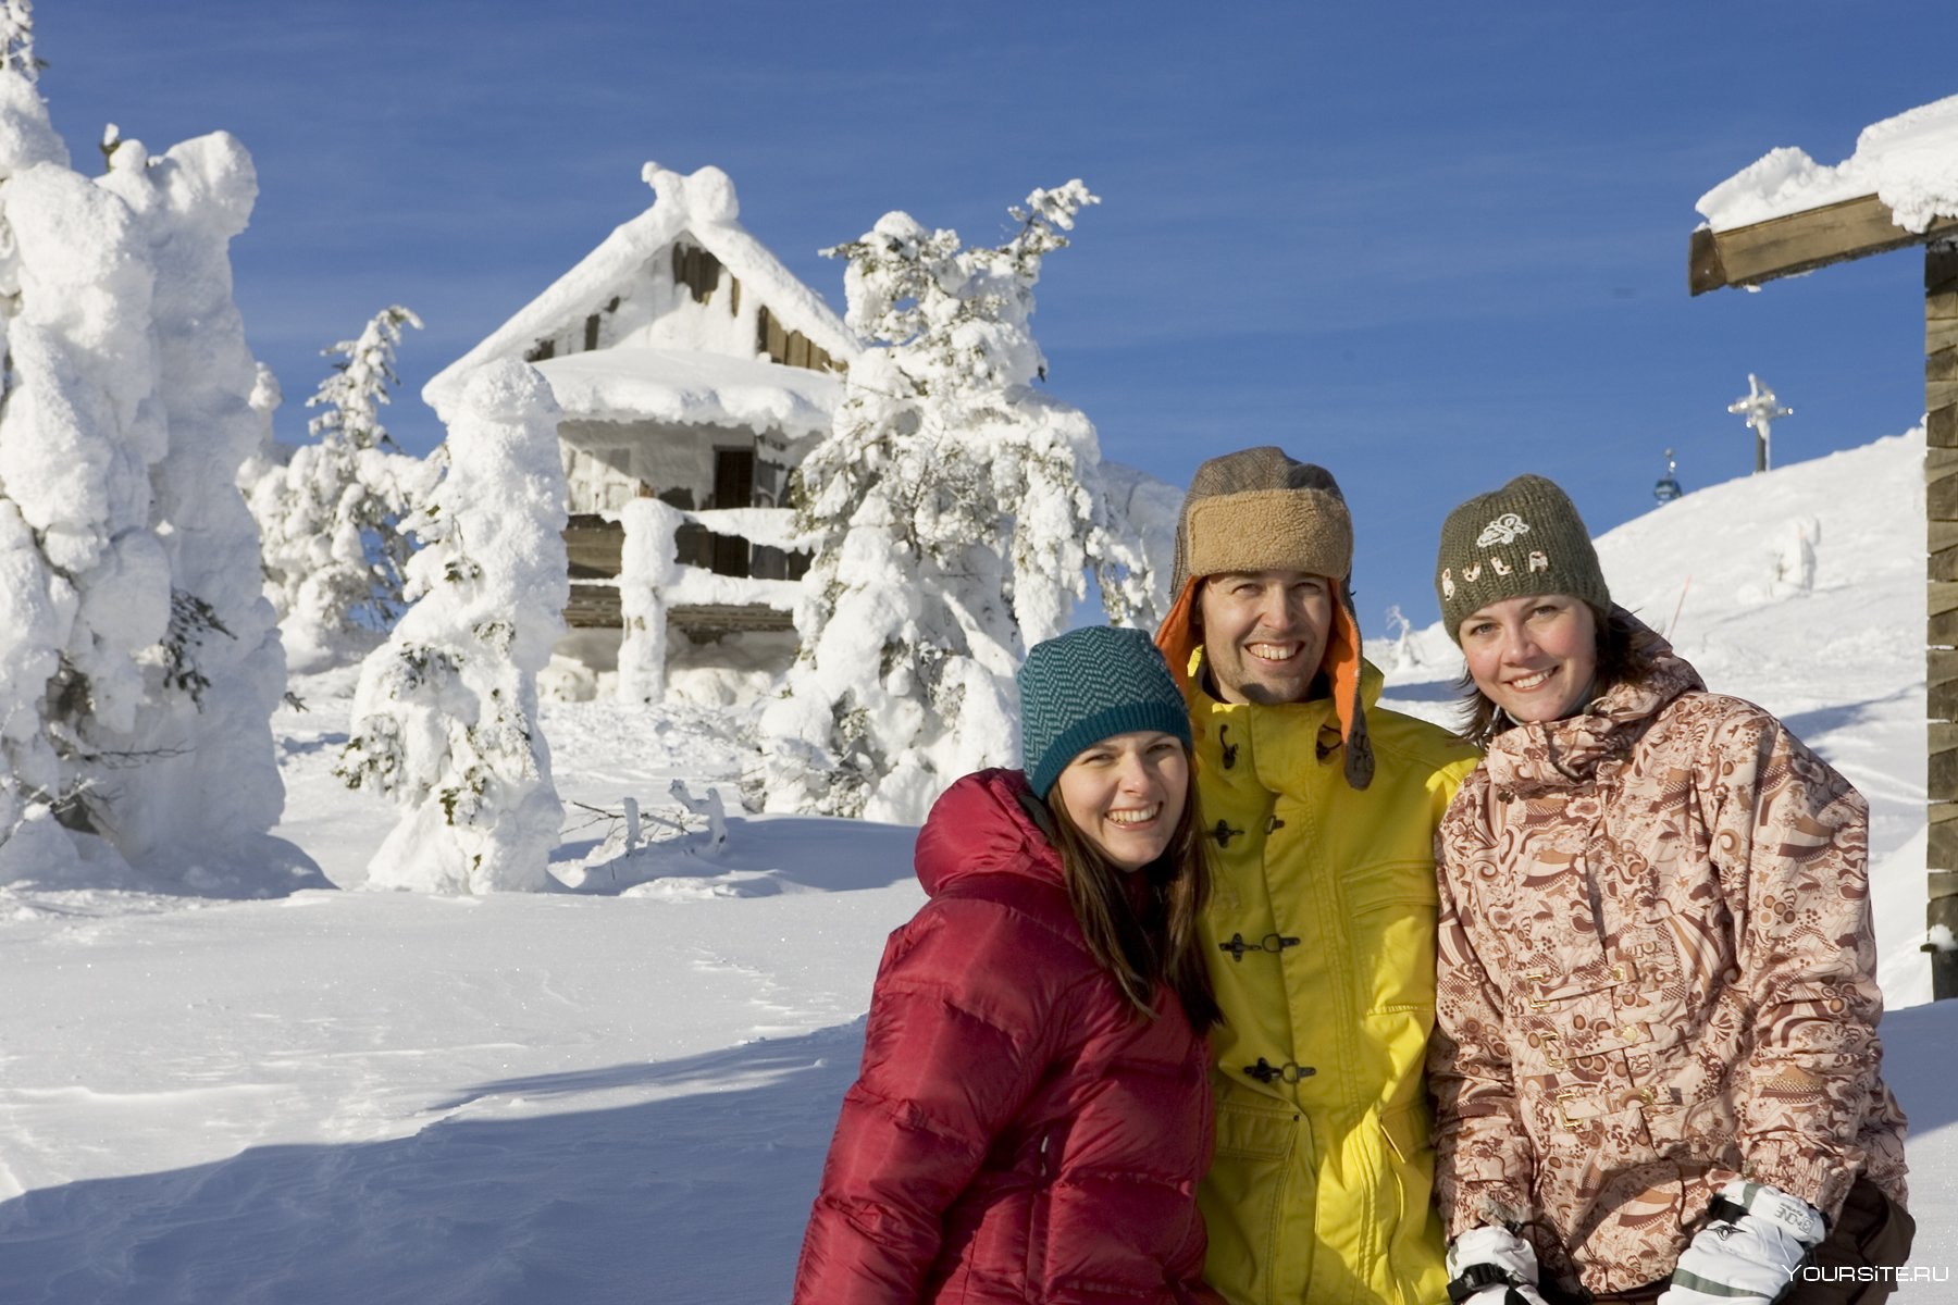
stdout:
<svg viewBox="0 0 1958 1305">
<path fill-rule="evenodd" d="M 1281 444 L 1339 477 L 1361 622 L 1433 620 L 1443 515 L 1521 472 L 1602 532 L 1752 468 L 1725 407 L 1762 374 L 1776 462 L 1923 413 L 1923 258 L 1686 295 L 1694 202 L 1778 145 L 1839 162 L 1958 92 L 1950 0 L 1758 4 L 838 6 L 744 0 L 43 0 L 76 164 L 114 121 L 225 129 L 260 182 L 233 247 L 255 352 L 303 434 L 319 350 L 388 303 L 417 391 L 650 202 L 648 158 L 723 166 L 742 221 L 842 309 L 816 250 L 883 211 L 1006 231 L 1102 196 L 1034 319 L 1106 458 L 1187 483 Z M 1942 65 L 1942 67 L 1940 67 Z M 1823 544 L 1827 546 L 1827 542 Z M 1682 577 L 1684 581 L 1686 577 Z"/>
</svg>

